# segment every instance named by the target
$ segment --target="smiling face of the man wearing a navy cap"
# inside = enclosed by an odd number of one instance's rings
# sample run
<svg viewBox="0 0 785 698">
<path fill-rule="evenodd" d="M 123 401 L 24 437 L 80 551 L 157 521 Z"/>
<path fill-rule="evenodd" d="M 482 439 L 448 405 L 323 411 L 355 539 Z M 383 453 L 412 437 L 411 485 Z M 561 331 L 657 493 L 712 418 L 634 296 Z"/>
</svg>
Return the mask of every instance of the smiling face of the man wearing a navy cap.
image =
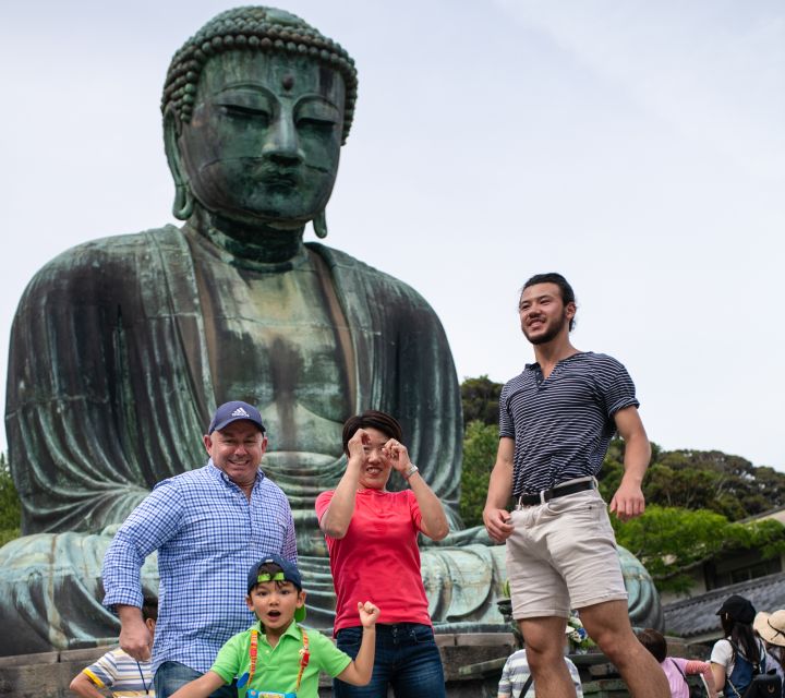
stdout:
<svg viewBox="0 0 785 698">
<path fill-rule="evenodd" d="M 253 422 L 241 419 L 204 437 L 205 448 L 216 468 L 227 473 L 240 486 L 252 485 L 267 437 Z"/>
</svg>

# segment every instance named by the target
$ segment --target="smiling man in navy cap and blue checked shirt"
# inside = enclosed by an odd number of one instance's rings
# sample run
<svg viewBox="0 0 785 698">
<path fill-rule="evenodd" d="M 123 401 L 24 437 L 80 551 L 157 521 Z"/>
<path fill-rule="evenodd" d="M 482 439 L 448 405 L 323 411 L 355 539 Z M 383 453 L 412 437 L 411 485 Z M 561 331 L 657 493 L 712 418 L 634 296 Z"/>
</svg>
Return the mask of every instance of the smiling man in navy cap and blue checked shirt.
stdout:
<svg viewBox="0 0 785 698">
<path fill-rule="evenodd" d="M 267 437 L 258 410 L 221 405 L 204 444 L 207 465 L 159 482 L 121 526 L 104 558 L 104 605 L 120 623 L 120 647 L 150 657 L 140 570 L 158 551 L 158 625 L 153 671 L 158 698 L 205 673 L 232 635 L 253 622 L 245 576 L 263 555 L 297 563 L 294 521 L 278 485 L 259 469 Z M 214 694 L 235 696 L 225 686 Z"/>
</svg>

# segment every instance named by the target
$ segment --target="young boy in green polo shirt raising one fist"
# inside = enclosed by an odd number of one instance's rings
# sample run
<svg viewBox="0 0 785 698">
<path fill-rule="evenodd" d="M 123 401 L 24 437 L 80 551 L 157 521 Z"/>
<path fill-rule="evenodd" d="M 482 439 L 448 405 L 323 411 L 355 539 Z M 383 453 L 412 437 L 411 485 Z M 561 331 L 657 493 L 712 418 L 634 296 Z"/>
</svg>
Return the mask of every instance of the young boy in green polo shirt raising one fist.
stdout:
<svg viewBox="0 0 785 698">
<path fill-rule="evenodd" d="M 354 660 L 321 633 L 298 625 L 305 617 L 302 578 L 280 555 L 251 567 L 245 603 L 258 623 L 229 638 L 212 669 L 171 698 L 207 698 L 234 677 L 238 695 L 246 698 L 317 698 L 319 671 L 354 686 L 371 681 L 379 610 L 370 601 L 358 602 L 363 638 Z"/>
</svg>

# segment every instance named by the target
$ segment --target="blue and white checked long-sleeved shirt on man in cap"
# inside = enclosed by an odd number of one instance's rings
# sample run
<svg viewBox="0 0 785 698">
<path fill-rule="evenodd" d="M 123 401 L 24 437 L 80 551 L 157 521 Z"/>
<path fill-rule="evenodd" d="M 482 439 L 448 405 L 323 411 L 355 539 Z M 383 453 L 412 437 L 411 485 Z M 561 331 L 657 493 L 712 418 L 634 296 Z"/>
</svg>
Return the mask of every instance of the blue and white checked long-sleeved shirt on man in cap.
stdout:
<svg viewBox="0 0 785 698">
<path fill-rule="evenodd" d="M 120 527 L 104 557 L 105 606 L 142 605 L 140 569 L 158 551 L 153 671 L 167 661 L 206 672 L 253 615 L 247 570 L 266 553 L 297 563 L 289 502 L 259 470 L 249 501 L 209 460 L 159 482 Z"/>
</svg>

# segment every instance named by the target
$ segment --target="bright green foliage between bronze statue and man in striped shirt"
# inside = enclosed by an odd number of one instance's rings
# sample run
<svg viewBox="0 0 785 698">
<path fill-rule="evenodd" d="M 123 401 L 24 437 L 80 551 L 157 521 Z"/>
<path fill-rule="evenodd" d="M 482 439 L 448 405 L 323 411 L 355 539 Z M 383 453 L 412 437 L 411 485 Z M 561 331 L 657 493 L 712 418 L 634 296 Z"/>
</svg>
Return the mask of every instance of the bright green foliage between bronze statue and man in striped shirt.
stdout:
<svg viewBox="0 0 785 698">
<path fill-rule="evenodd" d="M 498 426 L 469 422 L 463 435 L 463 471 L 459 512 L 466 526 L 481 526 L 488 479 L 496 462 Z"/>
</svg>

